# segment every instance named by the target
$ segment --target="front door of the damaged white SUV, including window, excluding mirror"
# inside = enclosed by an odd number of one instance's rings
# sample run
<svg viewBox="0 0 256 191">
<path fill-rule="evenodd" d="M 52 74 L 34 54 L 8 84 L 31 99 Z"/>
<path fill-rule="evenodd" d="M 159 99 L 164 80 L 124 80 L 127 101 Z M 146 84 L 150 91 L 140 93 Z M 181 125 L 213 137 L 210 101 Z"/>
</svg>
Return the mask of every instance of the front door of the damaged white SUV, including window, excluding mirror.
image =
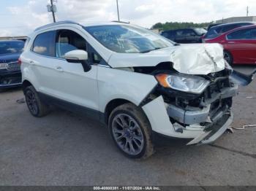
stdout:
<svg viewBox="0 0 256 191">
<path fill-rule="evenodd" d="M 75 30 L 75 29 L 74 29 Z M 69 63 L 64 54 L 71 50 L 86 50 L 88 44 L 79 31 L 59 30 L 56 33 L 55 87 L 58 98 L 64 101 L 98 110 L 97 66 L 83 71 L 81 63 Z"/>
</svg>

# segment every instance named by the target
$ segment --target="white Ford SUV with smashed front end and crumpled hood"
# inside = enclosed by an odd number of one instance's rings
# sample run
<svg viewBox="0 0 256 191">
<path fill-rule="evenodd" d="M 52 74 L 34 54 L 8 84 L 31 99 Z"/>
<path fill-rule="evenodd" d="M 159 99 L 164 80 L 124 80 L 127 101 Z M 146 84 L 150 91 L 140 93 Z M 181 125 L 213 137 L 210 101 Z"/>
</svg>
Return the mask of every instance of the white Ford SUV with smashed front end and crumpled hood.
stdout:
<svg viewBox="0 0 256 191">
<path fill-rule="evenodd" d="M 121 152 L 145 158 L 155 133 L 208 144 L 225 132 L 238 85 L 222 51 L 127 23 L 53 23 L 20 56 L 23 91 L 35 117 L 50 105 L 87 114 L 108 124 Z"/>
</svg>

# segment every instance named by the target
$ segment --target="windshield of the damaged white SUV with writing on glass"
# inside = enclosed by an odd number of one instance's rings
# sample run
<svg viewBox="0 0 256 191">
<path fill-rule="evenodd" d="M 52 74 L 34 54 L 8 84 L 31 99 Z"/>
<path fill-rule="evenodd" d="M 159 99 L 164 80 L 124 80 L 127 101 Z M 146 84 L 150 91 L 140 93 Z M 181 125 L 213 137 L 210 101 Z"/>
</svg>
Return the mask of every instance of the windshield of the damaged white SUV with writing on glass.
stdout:
<svg viewBox="0 0 256 191">
<path fill-rule="evenodd" d="M 158 34 L 135 26 L 89 26 L 86 31 L 108 49 L 120 53 L 144 53 L 173 46 Z"/>
</svg>

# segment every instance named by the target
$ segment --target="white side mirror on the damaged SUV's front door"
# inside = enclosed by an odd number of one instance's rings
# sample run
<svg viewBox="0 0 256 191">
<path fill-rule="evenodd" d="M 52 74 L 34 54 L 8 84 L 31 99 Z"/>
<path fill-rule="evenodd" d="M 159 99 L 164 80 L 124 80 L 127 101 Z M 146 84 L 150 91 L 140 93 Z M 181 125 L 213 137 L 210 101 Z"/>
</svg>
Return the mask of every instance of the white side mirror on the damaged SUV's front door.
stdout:
<svg viewBox="0 0 256 191">
<path fill-rule="evenodd" d="M 72 50 L 65 53 L 64 58 L 69 63 L 81 63 L 83 71 L 90 71 L 91 65 L 87 63 L 88 53 L 84 50 Z"/>
</svg>

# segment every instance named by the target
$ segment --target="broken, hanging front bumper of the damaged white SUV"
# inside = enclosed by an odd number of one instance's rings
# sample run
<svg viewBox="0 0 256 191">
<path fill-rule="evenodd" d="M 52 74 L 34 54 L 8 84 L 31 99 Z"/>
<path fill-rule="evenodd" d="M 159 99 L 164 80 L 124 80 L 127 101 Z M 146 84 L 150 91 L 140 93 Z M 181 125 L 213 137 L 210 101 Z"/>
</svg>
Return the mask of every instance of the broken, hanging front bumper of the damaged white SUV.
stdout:
<svg viewBox="0 0 256 191">
<path fill-rule="evenodd" d="M 165 103 L 162 95 L 160 95 L 144 105 L 143 111 L 146 113 L 154 132 L 172 138 L 192 139 L 188 144 L 209 144 L 222 136 L 233 121 L 233 114 L 228 106 L 220 107 L 218 112 L 211 116 L 211 119 L 209 107 L 215 101 L 232 98 L 237 94 L 237 91 L 237 85 L 223 88 L 211 100 L 206 101 L 204 109 L 198 109 L 195 112 L 177 110 L 172 105 Z"/>
</svg>

